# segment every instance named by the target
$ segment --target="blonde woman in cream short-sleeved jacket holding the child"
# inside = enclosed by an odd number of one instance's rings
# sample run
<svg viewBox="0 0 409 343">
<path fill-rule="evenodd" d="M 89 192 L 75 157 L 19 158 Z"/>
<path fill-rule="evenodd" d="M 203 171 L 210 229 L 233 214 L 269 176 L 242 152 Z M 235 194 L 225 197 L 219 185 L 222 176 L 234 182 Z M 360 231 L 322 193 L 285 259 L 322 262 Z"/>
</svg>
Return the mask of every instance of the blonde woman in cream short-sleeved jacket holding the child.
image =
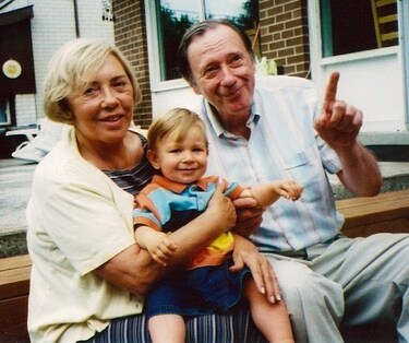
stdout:
<svg viewBox="0 0 409 343">
<path fill-rule="evenodd" d="M 32 342 L 148 340 L 143 295 L 236 223 L 234 206 L 219 190 L 202 215 L 172 234 L 179 249 L 168 267 L 135 244 L 133 196 L 154 174 L 146 140 L 131 126 L 140 100 L 129 62 L 106 43 L 75 39 L 51 59 L 45 111 L 71 128 L 37 166 L 27 208 Z M 248 240 L 237 241 L 234 261 L 236 268 L 249 264 L 267 293 L 276 287 L 268 263 Z M 252 324 L 249 331 L 239 329 L 246 320 L 245 309 L 193 318 L 188 338 L 260 339 Z M 200 328 L 196 336 L 193 326 Z"/>
</svg>

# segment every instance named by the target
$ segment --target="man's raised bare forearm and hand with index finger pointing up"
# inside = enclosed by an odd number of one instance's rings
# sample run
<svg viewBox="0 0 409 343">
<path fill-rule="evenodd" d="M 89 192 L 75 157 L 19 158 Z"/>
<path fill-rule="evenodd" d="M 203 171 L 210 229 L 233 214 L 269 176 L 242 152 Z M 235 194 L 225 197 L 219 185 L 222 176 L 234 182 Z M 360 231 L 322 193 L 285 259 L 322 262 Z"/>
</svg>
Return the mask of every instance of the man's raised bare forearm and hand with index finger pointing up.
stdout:
<svg viewBox="0 0 409 343">
<path fill-rule="evenodd" d="M 339 73 L 332 73 L 314 127 L 340 159 L 342 170 L 337 175 L 342 185 L 357 196 L 376 196 L 382 187 L 381 170 L 373 154 L 358 141 L 362 113 L 336 99 L 338 80 Z"/>
</svg>

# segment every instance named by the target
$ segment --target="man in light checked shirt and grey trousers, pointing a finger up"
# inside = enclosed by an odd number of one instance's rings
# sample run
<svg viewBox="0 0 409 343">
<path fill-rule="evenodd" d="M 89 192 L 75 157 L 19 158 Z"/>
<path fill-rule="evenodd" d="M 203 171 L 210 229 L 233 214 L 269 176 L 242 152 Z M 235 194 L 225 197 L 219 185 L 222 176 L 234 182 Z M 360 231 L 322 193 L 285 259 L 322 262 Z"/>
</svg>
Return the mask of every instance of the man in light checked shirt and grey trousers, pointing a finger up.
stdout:
<svg viewBox="0 0 409 343">
<path fill-rule="evenodd" d="M 237 203 L 237 230 L 268 256 L 296 341 L 342 342 L 341 322 L 388 320 L 408 342 L 409 235 L 340 234 L 326 173 L 357 196 L 377 194 L 382 176 L 357 138 L 362 113 L 336 98 L 339 74 L 332 74 L 321 106 L 310 81 L 260 83 L 249 38 L 226 21 L 193 25 L 179 47 L 179 68 L 203 95 L 209 174 L 244 185 L 292 178 L 304 187 L 298 202 Z"/>
</svg>

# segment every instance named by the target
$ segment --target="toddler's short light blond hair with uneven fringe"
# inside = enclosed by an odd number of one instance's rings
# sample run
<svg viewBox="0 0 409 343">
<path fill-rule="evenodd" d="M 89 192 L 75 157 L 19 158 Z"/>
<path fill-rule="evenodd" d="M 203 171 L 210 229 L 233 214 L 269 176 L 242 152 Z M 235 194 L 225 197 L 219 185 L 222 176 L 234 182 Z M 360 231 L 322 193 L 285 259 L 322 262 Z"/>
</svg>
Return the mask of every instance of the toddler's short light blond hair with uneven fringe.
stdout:
<svg viewBox="0 0 409 343">
<path fill-rule="evenodd" d="M 180 141 L 192 127 L 197 127 L 203 131 L 207 147 L 208 142 L 203 120 L 187 108 L 173 108 L 154 119 L 147 131 L 148 147 L 155 150 L 158 141 L 170 133 L 176 133 L 177 140 Z"/>
</svg>

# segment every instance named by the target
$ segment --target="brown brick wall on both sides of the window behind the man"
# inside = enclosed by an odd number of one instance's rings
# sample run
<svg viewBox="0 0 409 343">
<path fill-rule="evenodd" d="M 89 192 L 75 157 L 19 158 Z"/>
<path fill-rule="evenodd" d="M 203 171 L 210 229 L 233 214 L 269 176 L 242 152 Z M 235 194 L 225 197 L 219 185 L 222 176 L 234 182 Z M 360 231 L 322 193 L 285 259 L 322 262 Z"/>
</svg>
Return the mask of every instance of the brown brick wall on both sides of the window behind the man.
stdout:
<svg viewBox="0 0 409 343">
<path fill-rule="evenodd" d="M 146 22 L 143 0 L 116 0 L 116 44 L 131 60 L 143 102 L 134 115 L 136 125 L 152 121 Z M 306 76 L 310 69 L 306 0 L 260 0 L 262 55 L 273 58 L 288 75 Z"/>
</svg>

